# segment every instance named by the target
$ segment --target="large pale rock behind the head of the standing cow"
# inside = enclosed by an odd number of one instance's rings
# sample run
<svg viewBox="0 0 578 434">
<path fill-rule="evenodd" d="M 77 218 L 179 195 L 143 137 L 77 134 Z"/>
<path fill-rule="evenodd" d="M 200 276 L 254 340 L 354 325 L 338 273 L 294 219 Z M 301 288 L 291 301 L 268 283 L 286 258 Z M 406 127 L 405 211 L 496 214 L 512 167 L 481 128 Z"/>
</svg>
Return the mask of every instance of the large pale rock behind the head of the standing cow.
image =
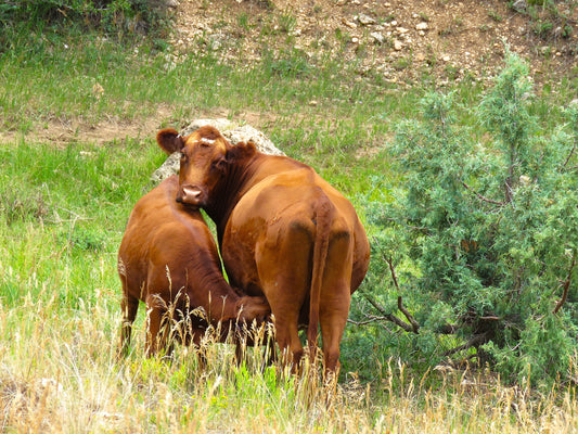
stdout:
<svg viewBox="0 0 578 434">
<path fill-rule="evenodd" d="M 193 120 L 188 127 L 181 131 L 181 136 L 189 136 L 194 130 L 210 125 L 217 128 L 221 135 L 231 142 L 231 144 L 237 144 L 239 142 L 253 141 L 259 152 L 269 155 L 285 155 L 283 151 L 280 151 L 271 140 L 267 138 L 261 131 L 253 128 L 251 125 L 240 125 L 229 119 L 196 119 Z M 168 178 L 171 175 L 179 173 L 180 154 L 175 152 L 169 155 L 163 165 L 154 171 L 151 176 L 151 181 L 157 184 L 162 180 Z"/>
</svg>

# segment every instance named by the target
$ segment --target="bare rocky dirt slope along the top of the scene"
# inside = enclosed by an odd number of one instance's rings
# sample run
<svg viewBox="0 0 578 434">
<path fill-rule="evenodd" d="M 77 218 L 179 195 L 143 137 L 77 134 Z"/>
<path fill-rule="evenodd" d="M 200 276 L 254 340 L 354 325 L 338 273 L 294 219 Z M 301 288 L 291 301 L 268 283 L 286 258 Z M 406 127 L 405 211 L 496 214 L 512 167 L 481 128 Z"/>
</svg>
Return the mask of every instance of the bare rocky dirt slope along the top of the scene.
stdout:
<svg viewBox="0 0 578 434">
<path fill-rule="evenodd" d="M 311 58 L 345 52 L 361 62 L 360 74 L 408 85 L 424 74 L 441 84 L 491 76 L 505 44 L 531 61 L 537 81 L 578 64 L 576 1 L 555 1 L 555 9 L 532 7 L 536 0 L 517 0 L 516 9 L 506 0 L 170 1 L 175 46 L 247 63 L 264 47 L 294 44 Z"/>
</svg>

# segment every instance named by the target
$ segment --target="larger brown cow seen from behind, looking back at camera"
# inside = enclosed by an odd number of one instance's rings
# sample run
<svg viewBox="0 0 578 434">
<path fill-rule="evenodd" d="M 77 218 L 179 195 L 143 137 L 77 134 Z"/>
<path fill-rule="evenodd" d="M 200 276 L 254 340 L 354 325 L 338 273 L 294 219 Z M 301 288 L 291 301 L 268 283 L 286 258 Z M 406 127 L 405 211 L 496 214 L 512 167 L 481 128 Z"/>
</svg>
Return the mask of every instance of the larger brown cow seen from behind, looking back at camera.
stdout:
<svg viewBox="0 0 578 434">
<path fill-rule="evenodd" d="M 177 202 L 216 222 L 232 284 L 267 296 L 284 360 L 295 367 L 303 357 L 300 323 L 314 355 L 321 326 L 325 371 L 336 372 L 351 293 L 370 257 L 349 201 L 311 167 L 253 143 L 232 146 L 213 127 L 184 138 L 165 129 L 157 142 L 181 151 Z"/>
</svg>

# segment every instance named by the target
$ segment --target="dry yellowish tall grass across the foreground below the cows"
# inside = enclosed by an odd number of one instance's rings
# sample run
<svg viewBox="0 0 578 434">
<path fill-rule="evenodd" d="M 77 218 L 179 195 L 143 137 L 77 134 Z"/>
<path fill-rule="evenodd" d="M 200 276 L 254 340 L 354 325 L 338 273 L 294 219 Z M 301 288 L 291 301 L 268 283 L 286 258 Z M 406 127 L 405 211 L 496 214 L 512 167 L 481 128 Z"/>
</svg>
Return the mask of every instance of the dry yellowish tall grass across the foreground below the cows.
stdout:
<svg viewBox="0 0 578 434">
<path fill-rule="evenodd" d="M 491 375 L 435 371 L 411 378 L 395 362 L 382 384 L 348 375 L 334 395 L 311 376 L 260 373 L 258 350 L 246 368 L 233 350 L 208 346 L 208 370 L 179 347 L 166 362 L 134 348 L 115 360 L 120 321 L 103 290 L 94 304 L 63 308 L 28 297 L 0 304 L 0 431 L 43 433 L 570 433 L 578 405 L 570 390 L 544 396 L 501 385 Z M 431 381 L 436 380 L 437 381 Z M 437 388 L 426 384 L 438 384 Z"/>
</svg>

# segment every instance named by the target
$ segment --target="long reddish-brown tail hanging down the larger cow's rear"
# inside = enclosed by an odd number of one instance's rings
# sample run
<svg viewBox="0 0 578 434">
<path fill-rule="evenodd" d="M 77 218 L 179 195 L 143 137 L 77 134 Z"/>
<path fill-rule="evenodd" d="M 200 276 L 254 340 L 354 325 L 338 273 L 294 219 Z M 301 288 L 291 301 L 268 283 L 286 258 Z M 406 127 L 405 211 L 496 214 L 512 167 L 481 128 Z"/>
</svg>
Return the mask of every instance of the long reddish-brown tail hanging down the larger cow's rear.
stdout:
<svg viewBox="0 0 578 434">
<path fill-rule="evenodd" d="M 322 193 L 316 209 L 316 237 L 313 243 L 313 270 L 311 275 L 311 289 L 309 299 L 309 327 L 307 329 L 307 340 L 309 343 L 309 354 L 312 358 L 317 356 L 317 336 L 319 328 L 319 309 L 321 299 L 321 284 L 325 271 L 327 259 L 330 230 L 333 219 L 333 205 L 329 197 Z"/>
</svg>

